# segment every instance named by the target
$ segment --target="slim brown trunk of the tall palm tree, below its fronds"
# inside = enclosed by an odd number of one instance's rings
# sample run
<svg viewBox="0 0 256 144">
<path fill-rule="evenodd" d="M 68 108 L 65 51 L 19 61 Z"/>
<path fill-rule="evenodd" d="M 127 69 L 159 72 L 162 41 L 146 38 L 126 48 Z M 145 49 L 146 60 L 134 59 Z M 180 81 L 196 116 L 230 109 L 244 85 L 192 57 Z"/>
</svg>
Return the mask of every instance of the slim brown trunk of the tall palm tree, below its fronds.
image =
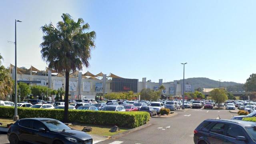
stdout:
<svg viewBox="0 0 256 144">
<path fill-rule="evenodd" d="M 68 122 L 68 89 L 69 89 L 69 71 L 66 70 L 64 122 Z"/>
</svg>

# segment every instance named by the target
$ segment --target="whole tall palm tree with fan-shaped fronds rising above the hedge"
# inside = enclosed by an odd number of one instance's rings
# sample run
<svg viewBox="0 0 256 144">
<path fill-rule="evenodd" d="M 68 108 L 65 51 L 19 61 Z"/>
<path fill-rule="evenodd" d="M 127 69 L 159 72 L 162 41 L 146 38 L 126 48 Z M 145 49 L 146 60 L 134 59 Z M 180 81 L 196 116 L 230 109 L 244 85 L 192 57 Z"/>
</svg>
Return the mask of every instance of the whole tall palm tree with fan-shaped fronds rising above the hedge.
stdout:
<svg viewBox="0 0 256 144">
<path fill-rule="evenodd" d="M 42 26 L 43 42 L 40 44 L 42 59 L 48 67 L 57 72 L 64 72 L 65 109 L 64 122 L 68 122 L 68 89 L 70 71 L 82 70 L 88 67 L 91 50 L 95 48 L 96 33 L 89 31 L 89 24 L 84 24 L 82 18 L 75 22 L 69 14 L 62 14 L 62 21 L 54 27 L 52 23 Z"/>
</svg>

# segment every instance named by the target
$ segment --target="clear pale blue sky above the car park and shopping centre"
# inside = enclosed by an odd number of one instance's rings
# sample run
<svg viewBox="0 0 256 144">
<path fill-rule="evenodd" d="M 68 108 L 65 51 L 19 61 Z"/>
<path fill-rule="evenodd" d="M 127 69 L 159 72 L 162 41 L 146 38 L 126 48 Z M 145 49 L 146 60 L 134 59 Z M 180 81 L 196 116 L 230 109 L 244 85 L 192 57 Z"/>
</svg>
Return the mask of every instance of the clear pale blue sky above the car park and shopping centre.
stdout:
<svg viewBox="0 0 256 144">
<path fill-rule="evenodd" d="M 158 82 L 207 77 L 244 83 L 255 73 L 255 0 L 3 0 L 0 5 L 0 53 L 14 64 L 14 19 L 18 67 L 43 70 L 40 26 L 62 13 L 83 18 L 96 31 L 93 74 Z"/>
</svg>

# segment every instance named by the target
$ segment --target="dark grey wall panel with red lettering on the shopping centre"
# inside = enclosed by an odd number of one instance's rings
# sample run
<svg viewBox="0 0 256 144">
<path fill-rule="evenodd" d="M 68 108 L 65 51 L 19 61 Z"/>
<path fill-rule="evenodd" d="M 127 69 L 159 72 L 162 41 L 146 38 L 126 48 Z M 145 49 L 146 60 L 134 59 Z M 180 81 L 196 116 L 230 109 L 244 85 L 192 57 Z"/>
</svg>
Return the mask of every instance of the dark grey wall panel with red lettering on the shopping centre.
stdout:
<svg viewBox="0 0 256 144">
<path fill-rule="evenodd" d="M 112 92 L 138 92 L 138 79 L 112 78 Z"/>
</svg>

